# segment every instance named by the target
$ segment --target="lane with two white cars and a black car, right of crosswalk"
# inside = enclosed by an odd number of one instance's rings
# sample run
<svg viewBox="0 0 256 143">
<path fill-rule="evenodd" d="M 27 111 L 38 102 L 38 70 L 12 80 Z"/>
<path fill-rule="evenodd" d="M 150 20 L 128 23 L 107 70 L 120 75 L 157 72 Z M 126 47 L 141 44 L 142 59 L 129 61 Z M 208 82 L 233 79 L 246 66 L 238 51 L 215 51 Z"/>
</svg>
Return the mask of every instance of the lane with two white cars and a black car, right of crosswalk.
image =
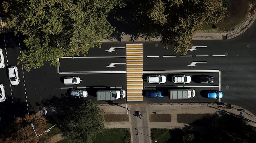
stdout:
<svg viewBox="0 0 256 143">
<path fill-rule="evenodd" d="M 143 79 L 144 79 L 144 86 L 218 86 L 219 85 L 219 71 L 212 71 L 212 72 L 192 72 L 192 71 L 187 71 L 187 72 L 178 72 L 178 71 L 173 71 L 173 72 L 169 72 L 166 71 L 164 73 L 164 71 L 159 71 L 159 73 L 155 72 L 155 73 L 145 73 L 146 71 L 144 71 L 143 74 Z M 167 80 L 166 83 L 164 84 L 150 84 L 146 81 L 146 78 L 150 75 L 164 75 L 166 76 Z M 190 83 L 186 83 L 186 84 L 182 84 L 182 83 L 173 83 L 172 82 L 172 77 L 176 76 L 176 75 L 186 75 L 186 76 L 191 76 L 191 82 Z M 197 83 L 197 78 L 200 76 L 213 76 L 214 77 L 214 83 L 213 84 L 207 84 L 207 83 Z"/>
</svg>

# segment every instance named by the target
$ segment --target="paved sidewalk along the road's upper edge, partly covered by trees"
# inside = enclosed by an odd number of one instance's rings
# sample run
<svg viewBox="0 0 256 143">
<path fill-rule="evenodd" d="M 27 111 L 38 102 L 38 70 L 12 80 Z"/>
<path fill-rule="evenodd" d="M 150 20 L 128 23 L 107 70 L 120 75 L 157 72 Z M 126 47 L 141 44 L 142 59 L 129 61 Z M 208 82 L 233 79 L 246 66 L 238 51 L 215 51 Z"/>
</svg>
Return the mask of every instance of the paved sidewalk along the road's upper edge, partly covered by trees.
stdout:
<svg viewBox="0 0 256 143">
<path fill-rule="evenodd" d="M 207 32 L 200 32 L 197 31 L 195 33 L 195 36 L 192 40 L 223 40 L 223 39 L 232 39 L 235 38 L 241 34 L 243 34 L 243 32 L 245 32 L 247 29 L 250 28 L 250 26 L 252 26 L 253 22 L 256 19 L 256 1 L 253 1 L 253 4 L 250 5 L 249 8 L 249 14 L 247 15 L 247 19 L 241 24 L 241 26 L 239 26 L 238 28 L 236 28 L 233 31 L 225 31 L 225 32 L 217 32 L 217 33 L 207 33 Z M 118 39 L 103 39 L 101 42 L 111 42 L 111 41 L 148 41 L 148 39 L 145 39 L 145 37 L 142 36 L 138 36 L 138 39 L 132 39 L 132 35 L 126 35 L 126 33 L 122 33 L 121 37 L 119 37 Z M 132 41 L 131 41 L 132 39 Z M 161 39 L 151 39 L 150 41 L 161 41 Z"/>
</svg>

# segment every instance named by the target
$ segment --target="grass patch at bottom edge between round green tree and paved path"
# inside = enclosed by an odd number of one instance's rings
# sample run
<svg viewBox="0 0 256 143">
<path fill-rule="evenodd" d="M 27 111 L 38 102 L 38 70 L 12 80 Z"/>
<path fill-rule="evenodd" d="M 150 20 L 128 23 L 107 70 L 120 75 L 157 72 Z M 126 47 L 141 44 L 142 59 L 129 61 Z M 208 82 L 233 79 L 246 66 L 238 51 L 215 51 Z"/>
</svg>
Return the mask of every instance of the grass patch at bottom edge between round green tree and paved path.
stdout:
<svg viewBox="0 0 256 143">
<path fill-rule="evenodd" d="M 93 139 L 93 143 L 128 143 L 130 136 L 126 128 L 104 129 Z"/>
</svg>

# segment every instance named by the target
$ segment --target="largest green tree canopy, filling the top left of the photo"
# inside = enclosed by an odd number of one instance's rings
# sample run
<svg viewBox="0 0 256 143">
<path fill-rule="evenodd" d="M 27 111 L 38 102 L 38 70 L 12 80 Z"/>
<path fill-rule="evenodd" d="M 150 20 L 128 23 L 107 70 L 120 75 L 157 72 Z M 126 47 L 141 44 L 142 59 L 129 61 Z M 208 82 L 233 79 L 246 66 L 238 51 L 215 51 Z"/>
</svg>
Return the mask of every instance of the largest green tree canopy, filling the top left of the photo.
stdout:
<svg viewBox="0 0 256 143">
<path fill-rule="evenodd" d="M 100 47 L 100 40 L 113 28 L 106 17 L 122 0 L 8 0 L 3 3 L 9 15 L 8 26 L 25 36 L 27 50 L 18 57 L 24 68 L 38 68 L 57 58 L 88 53 Z"/>
</svg>

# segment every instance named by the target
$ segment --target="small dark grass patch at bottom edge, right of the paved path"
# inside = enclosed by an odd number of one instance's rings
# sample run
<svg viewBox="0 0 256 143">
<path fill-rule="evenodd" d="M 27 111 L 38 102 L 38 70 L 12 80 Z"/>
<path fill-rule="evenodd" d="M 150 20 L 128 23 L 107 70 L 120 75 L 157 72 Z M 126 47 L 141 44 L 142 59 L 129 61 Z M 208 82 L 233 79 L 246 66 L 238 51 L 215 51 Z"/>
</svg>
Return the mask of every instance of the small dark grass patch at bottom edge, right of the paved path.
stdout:
<svg viewBox="0 0 256 143">
<path fill-rule="evenodd" d="M 169 129 L 151 129 L 151 139 L 152 143 L 157 141 L 157 143 L 167 143 L 167 141 L 171 138 L 169 133 Z"/>
</svg>

